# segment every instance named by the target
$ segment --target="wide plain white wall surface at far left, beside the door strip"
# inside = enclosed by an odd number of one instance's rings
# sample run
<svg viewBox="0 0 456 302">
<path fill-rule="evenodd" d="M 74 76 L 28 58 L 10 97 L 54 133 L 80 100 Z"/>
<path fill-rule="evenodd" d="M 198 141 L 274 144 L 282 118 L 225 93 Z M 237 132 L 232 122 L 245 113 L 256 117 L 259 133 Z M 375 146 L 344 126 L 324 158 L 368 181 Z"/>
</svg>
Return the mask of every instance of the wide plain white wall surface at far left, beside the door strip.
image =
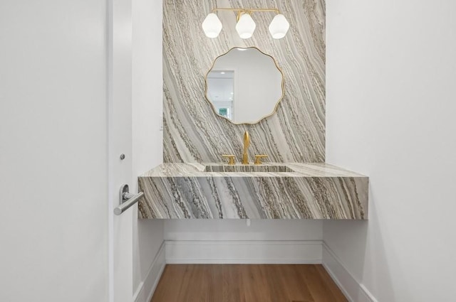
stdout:
<svg viewBox="0 0 456 302">
<path fill-rule="evenodd" d="M 0 301 L 108 301 L 105 16 L 0 1 Z"/>
</svg>

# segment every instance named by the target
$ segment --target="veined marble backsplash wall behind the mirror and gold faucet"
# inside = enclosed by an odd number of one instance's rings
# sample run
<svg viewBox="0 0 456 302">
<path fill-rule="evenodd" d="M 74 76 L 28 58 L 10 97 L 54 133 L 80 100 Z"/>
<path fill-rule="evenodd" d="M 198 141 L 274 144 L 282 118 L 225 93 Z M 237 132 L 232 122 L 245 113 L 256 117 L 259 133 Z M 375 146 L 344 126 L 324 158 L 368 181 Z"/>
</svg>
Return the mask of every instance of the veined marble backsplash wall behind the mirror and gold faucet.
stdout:
<svg viewBox="0 0 456 302">
<path fill-rule="evenodd" d="M 255 13 L 257 29 L 239 38 L 232 12 L 218 12 L 218 38 L 207 38 L 201 23 L 215 8 L 277 8 L 291 25 L 286 37 L 271 38 L 273 13 Z M 273 56 L 284 72 L 285 96 L 276 114 L 254 125 L 234 125 L 217 116 L 204 97 L 204 77 L 218 55 L 255 46 Z M 249 158 L 271 162 L 325 161 L 325 1 L 163 1 L 163 160 L 220 162 L 222 154 L 242 158 L 244 131 Z"/>
</svg>

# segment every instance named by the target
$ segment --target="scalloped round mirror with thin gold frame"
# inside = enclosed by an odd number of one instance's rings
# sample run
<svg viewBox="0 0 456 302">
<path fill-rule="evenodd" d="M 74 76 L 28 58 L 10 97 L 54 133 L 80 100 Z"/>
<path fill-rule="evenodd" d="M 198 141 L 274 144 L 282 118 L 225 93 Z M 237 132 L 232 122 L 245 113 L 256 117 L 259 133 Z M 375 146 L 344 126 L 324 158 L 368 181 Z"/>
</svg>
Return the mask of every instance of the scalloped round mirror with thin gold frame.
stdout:
<svg viewBox="0 0 456 302">
<path fill-rule="evenodd" d="M 207 72 L 206 99 L 234 124 L 256 124 L 271 116 L 283 97 L 283 73 L 258 48 L 232 48 Z"/>
</svg>

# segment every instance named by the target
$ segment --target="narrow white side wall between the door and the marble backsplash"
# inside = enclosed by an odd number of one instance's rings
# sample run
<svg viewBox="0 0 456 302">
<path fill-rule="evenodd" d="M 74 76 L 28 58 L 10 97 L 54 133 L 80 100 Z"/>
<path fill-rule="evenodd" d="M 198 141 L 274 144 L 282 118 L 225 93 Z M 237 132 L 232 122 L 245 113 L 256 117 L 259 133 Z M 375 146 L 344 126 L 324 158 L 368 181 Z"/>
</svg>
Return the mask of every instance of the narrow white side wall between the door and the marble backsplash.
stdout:
<svg viewBox="0 0 456 302">
<path fill-rule="evenodd" d="M 133 0 L 133 190 L 138 176 L 162 163 L 162 1 Z M 163 242 L 163 220 L 133 217 L 133 292 L 147 301 Z M 155 261 L 154 261 L 155 260 Z"/>
</svg>

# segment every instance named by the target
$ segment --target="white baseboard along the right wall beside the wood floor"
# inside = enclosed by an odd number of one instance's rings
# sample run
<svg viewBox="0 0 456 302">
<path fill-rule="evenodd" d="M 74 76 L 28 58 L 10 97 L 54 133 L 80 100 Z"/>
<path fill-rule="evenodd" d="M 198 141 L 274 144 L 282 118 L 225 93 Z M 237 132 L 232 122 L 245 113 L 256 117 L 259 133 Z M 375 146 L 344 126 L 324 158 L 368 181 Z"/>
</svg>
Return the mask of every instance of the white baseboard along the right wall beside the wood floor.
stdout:
<svg viewBox="0 0 456 302">
<path fill-rule="evenodd" d="M 322 264 L 331 278 L 350 302 L 378 302 L 370 291 L 361 284 L 342 264 L 336 254 L 323 242 Z"/>
</svg>

